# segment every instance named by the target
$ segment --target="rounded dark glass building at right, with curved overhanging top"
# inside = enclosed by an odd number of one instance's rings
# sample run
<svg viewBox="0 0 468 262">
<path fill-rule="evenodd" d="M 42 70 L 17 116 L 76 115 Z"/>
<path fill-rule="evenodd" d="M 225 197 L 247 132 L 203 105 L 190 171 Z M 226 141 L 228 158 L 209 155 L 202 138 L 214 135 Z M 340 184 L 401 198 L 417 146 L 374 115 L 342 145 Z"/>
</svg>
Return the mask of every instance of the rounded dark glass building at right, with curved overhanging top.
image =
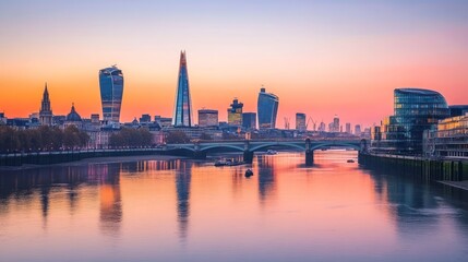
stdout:
<svg viewBox="0 0 468 262">
<path fill-rule="evenodd" d="M 421 88 L 396 88 L 394 97 L 394 116 L 372 129 L 372 151 L 420 155 L 423 131 L 449 116 L 447 103 L 437 92 Z"/>
</svg>

